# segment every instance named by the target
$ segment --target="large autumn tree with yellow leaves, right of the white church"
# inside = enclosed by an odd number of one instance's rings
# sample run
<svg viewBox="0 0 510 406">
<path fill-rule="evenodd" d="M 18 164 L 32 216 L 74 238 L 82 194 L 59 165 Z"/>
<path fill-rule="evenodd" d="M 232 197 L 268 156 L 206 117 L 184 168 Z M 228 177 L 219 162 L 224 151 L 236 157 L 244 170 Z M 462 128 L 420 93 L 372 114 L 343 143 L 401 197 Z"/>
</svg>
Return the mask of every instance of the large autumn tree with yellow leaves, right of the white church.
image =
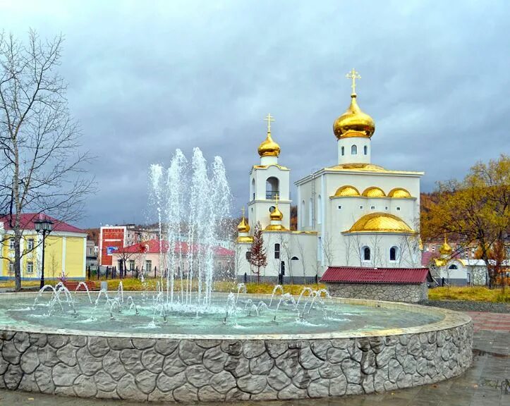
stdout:
<svg viewBox="0 0 510 406">
<path fill-rule="evenodd" d="M 490 266 L 490 252 L 495 245 L 505 245 L 510 230 L 510 157 L 501 155 L 487 164 L 475 164 L 459 180 L 438 183 L 437 202 L 422 213 L 423 240 L 454 235 L 461 245 L 480 247 L 494 284 L 497 268 Z"/>
</svg>

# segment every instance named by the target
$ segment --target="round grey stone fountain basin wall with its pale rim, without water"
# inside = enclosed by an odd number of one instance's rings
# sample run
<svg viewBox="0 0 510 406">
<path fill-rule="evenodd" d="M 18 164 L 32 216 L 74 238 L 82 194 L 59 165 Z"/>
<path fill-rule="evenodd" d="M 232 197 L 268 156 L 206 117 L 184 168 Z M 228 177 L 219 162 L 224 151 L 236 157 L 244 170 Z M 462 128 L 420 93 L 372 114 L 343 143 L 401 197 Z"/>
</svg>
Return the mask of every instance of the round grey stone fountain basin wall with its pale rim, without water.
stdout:
<svg viewBox="0 0 510 406">
<path fill-rule="evenodd" d="M 12 293 L 2 300 L 35 294 Z M 152 402 L 290 400 L 381 392 L 461 374 L 472 362 L 466 314 L 396 302 L 339 303 L 441 315 L 380 331 L 235 336 L 0 326 L 0 386 Z"/>
</svg>

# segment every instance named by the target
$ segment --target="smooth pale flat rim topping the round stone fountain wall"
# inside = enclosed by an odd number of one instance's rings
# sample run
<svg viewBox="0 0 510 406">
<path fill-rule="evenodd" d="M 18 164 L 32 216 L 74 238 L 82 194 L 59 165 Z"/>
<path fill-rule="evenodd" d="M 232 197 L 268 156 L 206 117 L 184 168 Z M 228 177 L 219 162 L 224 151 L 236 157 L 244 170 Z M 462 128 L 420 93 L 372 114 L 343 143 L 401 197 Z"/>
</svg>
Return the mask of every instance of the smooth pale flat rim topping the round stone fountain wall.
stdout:
<svg viewBox="0 0 510 406">
<path fill-rule="evenodd" d="M 115 293 L 115 291 L 113 291 Z M 151 292 L 145 292 L 150 294 Z M 81 292 L 79 293 L 82 294 Z M 140 295 L 142 292 L 136 292 Z M 228 295 L 226 293 L 214 293 L 214 296 Z M 3 293 L 0 300 L 8 300 L 8 297 L 36 297 L 37 293 Z M 249 293 L 241 293 L 241 297 L 271 297 L 271 295 L 255 295 Z M 447 330 L 469 324 L 470 316 L 465 313 L 455 312 L 449 309 L 439 307 L 429 307 L 423 305 L 415 305 L 403 302 L 387 302 L 384 300 L 368 300 L 368 299 L 351 299 L 346 297 L 332 297 L 330 300 L 344 303 L 346 305 L 361 305 L 370 307 L 381 307 L 384 309 L 403 309 L 408 312 L 423 314 L 440 314 L 442 320 L 434 323 L 422 324 L 420 326 L 404 327 L 404 328 L 387 328 L 381 330 L 370 331 L 328 331 L 325 333 L 301 333 L 301 334 L 171 334 L 171 333 L 139 333 L 139 332 L 113 332 L 113 331 L 95 331 L 95 330 L 75 330 L 72 328 L 49 328 L 49 327 L 17 327 L 8 324 L 0 324 L 0 331 L 22 331 L 25 333 L 40 334 L 58 334 L 66 336 L 92 336 L 105 338 L 153 338 L 166 340 L 329 340 L 336 338 L 368 338 L 380 336 L 401 336 L 403 334 L 427 333 L 432 331 Z"/>
</svg>

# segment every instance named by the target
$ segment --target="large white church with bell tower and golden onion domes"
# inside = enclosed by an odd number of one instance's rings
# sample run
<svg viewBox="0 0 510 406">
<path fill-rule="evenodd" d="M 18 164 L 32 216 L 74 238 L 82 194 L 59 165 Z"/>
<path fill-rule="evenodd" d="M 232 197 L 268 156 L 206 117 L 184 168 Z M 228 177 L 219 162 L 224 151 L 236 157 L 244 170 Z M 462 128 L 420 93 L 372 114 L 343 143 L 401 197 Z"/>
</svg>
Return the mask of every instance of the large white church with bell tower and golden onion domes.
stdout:
<svg viewBox="0 0 510 406">
<path fill-rule="evenodd" d="M 298 226 L 291 230 L 290 168 L 279 163 L 280 147 L 267 137 L 260 144 L 260 163 L 250 171 L 248 221 L 238 225 L 236 271 L 250 276 L 250 247 L 257 222 L 267 254 L 261 280 L 283 274 L 295 283 L 312 282 L 330 266 L 415 268 L 420 266 L 420 177 L 423 172 L 390 170 L 372 164 L 375 123 L 358 106 L 356 70 L 351 104 L 336 118 L 338 164 L 298 180 Z M 332 142 L 334 141 L 332 137 Z"/>
</svg>

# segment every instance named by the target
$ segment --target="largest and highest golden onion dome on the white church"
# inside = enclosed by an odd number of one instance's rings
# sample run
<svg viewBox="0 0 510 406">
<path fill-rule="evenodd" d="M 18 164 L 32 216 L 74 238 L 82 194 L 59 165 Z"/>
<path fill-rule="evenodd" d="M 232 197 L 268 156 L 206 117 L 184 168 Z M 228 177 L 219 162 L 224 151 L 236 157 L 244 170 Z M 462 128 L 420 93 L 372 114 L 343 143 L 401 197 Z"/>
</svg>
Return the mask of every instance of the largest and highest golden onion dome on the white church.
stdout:
<svg viewBox="0 0 510 406">
<path fill-rule="evenodd" d="M 333 132 L 336 138 L 347 137 L 372 137 L 375 131 L 375 123 L 372 117 L 363 113 L 358 102 L 356 93 L 351 94 L 351 106 L 333 124 Z"/>
</svg>

